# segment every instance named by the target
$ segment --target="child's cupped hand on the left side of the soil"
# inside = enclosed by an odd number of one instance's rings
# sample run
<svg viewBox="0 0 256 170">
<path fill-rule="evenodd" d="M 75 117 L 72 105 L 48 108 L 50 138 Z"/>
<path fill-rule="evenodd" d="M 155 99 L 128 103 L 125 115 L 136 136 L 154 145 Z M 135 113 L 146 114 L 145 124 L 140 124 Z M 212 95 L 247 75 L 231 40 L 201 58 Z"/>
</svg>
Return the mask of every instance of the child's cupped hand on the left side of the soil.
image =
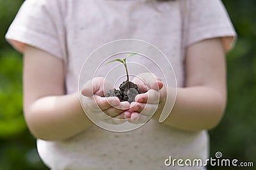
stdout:
<svg viewBox="0 0 256 170">
<path fill-rule="evenodd" d="M 120 102 L 118 97 L 104 97 L 104 91 L 112 89 L 113 85 L 102 77 L 93 78 L 84 84 L 81 90 L 81 102 L 86 115 L 93 122 L 102 121 L 108 124 L 123 124 L 130 115 L 130 104 Z"/>
</svg>

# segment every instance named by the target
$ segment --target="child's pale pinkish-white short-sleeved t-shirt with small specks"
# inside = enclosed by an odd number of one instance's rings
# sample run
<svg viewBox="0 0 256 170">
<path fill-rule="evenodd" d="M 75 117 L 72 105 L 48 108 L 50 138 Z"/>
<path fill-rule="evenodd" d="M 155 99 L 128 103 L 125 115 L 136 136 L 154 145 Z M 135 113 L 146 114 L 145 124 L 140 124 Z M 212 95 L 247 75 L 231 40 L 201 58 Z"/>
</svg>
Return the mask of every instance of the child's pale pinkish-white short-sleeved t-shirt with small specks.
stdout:
<svg viewBox="0 0 256 170">
<path fill-rule="evenodd" d="M 18 50 L 35 46 L 66 64 L 67 93 L 77 92 L 79 71 L 97 47 L 134 38 L 156 45 L 184 86 L 184 49 L 207 38 L 223 38 L 226 50 L 236 32 L 218 0 L 27 0 L 6 34 Z M 92 73 L 88 73 L 90 75 Z M 164 160 L 207 159 L 207 131 L 186 132 L 150 120 L 135 131 L 108 132 L 93 125 L 65 141 L 37 140 L 51 169 L 203 169 L 166 167 Z"/>
</svg>

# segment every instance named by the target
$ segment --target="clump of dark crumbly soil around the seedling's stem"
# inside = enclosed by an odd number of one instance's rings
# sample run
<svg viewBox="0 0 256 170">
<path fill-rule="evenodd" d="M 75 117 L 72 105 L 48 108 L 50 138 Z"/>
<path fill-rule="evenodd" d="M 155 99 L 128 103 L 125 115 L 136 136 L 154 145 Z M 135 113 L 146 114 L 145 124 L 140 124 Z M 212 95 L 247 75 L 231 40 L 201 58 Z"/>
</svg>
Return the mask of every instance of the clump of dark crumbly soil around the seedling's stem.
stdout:
<svg viewBox="0 0 256 170">
<path fill-rule="evenodd" d="M 118 97 L 120 101 L 128 101 L 129 103 L 134 102 L 135 96 L 137 94 L 141 94 L 140 90 L 138 89 L 138 86 L 131 81 L 129 81 L 130 89 L 128 89 L 128 83 L 127 80 L 124 81 L 120 86 L 120 90 L 112 89 L 109 90 L 108 94 L 106 94 L 106 97 Z"/>
</svg>

